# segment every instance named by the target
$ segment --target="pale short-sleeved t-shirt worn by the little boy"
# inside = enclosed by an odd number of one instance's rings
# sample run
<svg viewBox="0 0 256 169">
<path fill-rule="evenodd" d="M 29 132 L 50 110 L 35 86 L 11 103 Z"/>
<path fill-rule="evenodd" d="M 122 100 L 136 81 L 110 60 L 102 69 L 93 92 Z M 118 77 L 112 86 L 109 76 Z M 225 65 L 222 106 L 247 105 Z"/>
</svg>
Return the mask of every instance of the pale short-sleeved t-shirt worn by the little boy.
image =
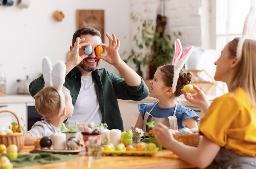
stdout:
<svg viewBox="0 0 256 169">
<path fill-rule="evenodd" d="M 63 123 L 62 125 L 65 126 Z M 47 120 L 37 121 L 28 131 L 33 137 L 44 137 L 61 132 L 60 127 L 53 126 Z"/>
</svg>

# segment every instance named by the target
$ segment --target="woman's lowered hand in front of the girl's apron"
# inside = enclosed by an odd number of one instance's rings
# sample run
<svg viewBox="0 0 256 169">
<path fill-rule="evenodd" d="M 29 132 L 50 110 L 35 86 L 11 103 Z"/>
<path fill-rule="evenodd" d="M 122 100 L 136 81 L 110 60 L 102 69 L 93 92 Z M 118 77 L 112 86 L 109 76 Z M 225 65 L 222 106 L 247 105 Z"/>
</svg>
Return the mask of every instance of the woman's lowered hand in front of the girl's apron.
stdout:
<svg viewBox="0 0 256 169">
<path fill-rule="evenodd" d="M 154 136 L 156 140 L 165 148 L 168 147 L 171 141 L 174 140 L 173 134 L 171 133 L 170 129 L 168 129 L 167 126 L 162 123 L 157 123 L 153 130 L 155 131 Z"/>
</svg>

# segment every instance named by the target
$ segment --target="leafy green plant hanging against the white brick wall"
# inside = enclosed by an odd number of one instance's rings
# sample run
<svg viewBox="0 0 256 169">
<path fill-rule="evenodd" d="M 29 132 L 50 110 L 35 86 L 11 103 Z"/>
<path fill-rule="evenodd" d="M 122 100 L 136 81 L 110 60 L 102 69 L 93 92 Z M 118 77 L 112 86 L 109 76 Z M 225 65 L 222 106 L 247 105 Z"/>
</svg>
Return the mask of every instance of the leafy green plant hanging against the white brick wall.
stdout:
<svg viewBox="0 0 256 169">
<path fill-rule="evenodd" d="M 130 18 L 133 22 L 140 23 L 137 30 L 138 34 L 141 33 L 141 36 L 137 36 L 137 34 L 133 36 L 133 41 L 138 50 L 131 49 L 127 60 L 132 59 L 136 67 L 148 65 L 149 77 L 147 78 L 153 79 L 156 67 L 164 65 L 165 62 L 171 62 L 173 58 L 175 49 L 174 44 L 171 42 L 171 35 L 165 33 L 164 29 L 155 31 L 152 19 L 142 19 L 134 13 L 130 14 Z M 167 22 L 167 19 L 163 22 Z M 178 32 L 178 34 L 173 32 L 173 36 L 177 38 L 181 36 L 181 32 Z"/>
</svg>

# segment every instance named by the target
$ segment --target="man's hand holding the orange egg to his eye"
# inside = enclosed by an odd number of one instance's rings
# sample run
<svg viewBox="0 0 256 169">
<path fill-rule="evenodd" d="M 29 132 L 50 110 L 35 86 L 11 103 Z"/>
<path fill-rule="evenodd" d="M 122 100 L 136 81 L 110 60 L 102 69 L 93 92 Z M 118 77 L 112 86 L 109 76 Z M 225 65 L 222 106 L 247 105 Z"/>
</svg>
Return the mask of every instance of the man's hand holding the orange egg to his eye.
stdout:
<svg viewBox="0 0 256 169">
<path fill-rule="evenodd" d="M 102 46 L 108 53 L 106 56 L 96 56 L 97 59 L 102 59 L 106 62 L 108 62 L 109 64 L 112 65 L 118 65 L 122 59 L 119 56 L 118 53 L 118 49 L 120 46 L 120 40 L 116 39 L 115 34 L 112 34 L 113 39 L 111 38 L 111 36 L 109 34 L 106 34 L 106 36 L 108 37 L 109 40 L 109 46 L 106 45 L 105 43 L 101 43 L 98 46 Z"/>
</svg>

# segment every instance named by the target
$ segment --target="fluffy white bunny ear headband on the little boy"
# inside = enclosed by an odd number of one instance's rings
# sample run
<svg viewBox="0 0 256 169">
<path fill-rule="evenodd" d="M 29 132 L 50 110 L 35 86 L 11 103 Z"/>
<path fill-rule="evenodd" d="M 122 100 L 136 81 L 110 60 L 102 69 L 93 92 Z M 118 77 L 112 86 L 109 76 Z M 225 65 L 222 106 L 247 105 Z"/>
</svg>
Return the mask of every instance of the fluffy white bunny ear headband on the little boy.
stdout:
<svg viewBox="0 0 256 169">
<path fill-rule="evenodd" d="M 65 96 L 61 90 L 65 82 L 66 65 L 63 61 L 58 61 L 54 67 L 50 59 L 45 56 L 42 61 L 42 73 L 44 76 L 45 87 L 52 87 L 57 90 L 60 96 L 61 108 L 58 116 L 63 114 L 65 107 Z"/>
</svg>

